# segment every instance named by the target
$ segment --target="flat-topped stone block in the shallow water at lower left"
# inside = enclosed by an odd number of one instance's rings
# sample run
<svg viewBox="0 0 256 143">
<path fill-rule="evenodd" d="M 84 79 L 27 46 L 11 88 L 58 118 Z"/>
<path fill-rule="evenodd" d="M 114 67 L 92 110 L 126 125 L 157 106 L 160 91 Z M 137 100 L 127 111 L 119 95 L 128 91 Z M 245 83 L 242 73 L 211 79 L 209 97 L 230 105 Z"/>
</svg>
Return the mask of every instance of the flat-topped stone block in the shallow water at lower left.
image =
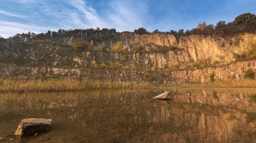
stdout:
<svg viewBox="0 0 256 143">
<path fill-rule="evenodd" d="M 15 131 L 15 135 L 34 135 L 49 131 L 51 129 L 51 119 L 46 118 L 26 118 L 23 119 L 18 129 Z"/>
</svg>

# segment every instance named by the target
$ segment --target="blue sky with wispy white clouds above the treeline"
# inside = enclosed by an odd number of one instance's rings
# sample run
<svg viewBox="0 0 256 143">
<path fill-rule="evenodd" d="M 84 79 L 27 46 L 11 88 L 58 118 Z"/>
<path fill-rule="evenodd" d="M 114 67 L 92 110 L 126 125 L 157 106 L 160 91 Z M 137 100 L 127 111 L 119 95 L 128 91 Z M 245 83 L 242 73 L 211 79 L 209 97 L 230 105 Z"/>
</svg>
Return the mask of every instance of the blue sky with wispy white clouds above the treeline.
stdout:
<svg viewBox="0 0 256 143">
<path fill-rule="evenodd" d="M 184 30 L 256 14 L 256 0 L 0 0 L 0 36 L 58 29 Z"/>
</svg>

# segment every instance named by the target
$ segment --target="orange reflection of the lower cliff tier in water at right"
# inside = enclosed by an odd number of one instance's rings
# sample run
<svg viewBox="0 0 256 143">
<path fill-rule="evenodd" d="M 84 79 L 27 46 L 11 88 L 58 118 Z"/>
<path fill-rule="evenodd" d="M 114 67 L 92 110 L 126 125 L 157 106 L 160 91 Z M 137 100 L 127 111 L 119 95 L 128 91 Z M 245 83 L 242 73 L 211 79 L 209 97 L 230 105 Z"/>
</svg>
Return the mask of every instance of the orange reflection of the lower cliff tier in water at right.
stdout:
<svg viewBox="0 0 256 143">
<path fill-rule="evenodd" d="M 250 92 L 251 90 L 251 92 Z M 256 94 L 256 89 L 201 89 L 173 94 L 175 102 L 200 103 L 212 106 L 226 106 L 247 112 L 256 112 L 256 104 L 251 95 Z"/>
</svg>

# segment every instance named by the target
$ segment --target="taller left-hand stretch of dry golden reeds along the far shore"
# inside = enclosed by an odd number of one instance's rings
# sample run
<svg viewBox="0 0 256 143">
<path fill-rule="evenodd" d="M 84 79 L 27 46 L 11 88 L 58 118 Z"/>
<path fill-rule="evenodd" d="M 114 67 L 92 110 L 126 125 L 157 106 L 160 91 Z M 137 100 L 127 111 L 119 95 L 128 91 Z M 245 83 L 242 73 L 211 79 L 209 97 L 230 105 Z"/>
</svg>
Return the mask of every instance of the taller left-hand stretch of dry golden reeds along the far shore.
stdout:
<svg viewBox="0 0 256 143">
<path fill-rule="evenodd" d="M 147 83 L 79 81 L 77 79 L 0 79 L 0 92 L 82 91 L 86 89 L 137 89 L 147 87 Z"/>
</svg>

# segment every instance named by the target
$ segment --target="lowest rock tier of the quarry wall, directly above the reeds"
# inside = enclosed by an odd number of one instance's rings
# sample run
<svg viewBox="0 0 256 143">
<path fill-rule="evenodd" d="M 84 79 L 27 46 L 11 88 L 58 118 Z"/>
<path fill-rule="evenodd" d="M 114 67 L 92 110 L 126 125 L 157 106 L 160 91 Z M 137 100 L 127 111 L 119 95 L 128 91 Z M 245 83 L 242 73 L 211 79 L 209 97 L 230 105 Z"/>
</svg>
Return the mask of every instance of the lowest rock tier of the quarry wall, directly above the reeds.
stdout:
<svg viewBox="0 0 256 143">
<path fill-rule="evenodd" d="M 209 67 L 205 69 L 178 71 L 157 70 L 153 72 L 139 70 L 120 71 L 81 68 L 57 68 L 51 66 L 2 66 L 0 68 L 0 75 L 2 78 L 70 77 L 117 82 L 207 83 L 210 81 L 211 74 L 214 74 L 214 79 L 216 81 L 244 79 L 244 72 L 247 71 L 247 69 L 256 71 L 256 60 L 235 62 L 226 66 Z"/>
</svg>

